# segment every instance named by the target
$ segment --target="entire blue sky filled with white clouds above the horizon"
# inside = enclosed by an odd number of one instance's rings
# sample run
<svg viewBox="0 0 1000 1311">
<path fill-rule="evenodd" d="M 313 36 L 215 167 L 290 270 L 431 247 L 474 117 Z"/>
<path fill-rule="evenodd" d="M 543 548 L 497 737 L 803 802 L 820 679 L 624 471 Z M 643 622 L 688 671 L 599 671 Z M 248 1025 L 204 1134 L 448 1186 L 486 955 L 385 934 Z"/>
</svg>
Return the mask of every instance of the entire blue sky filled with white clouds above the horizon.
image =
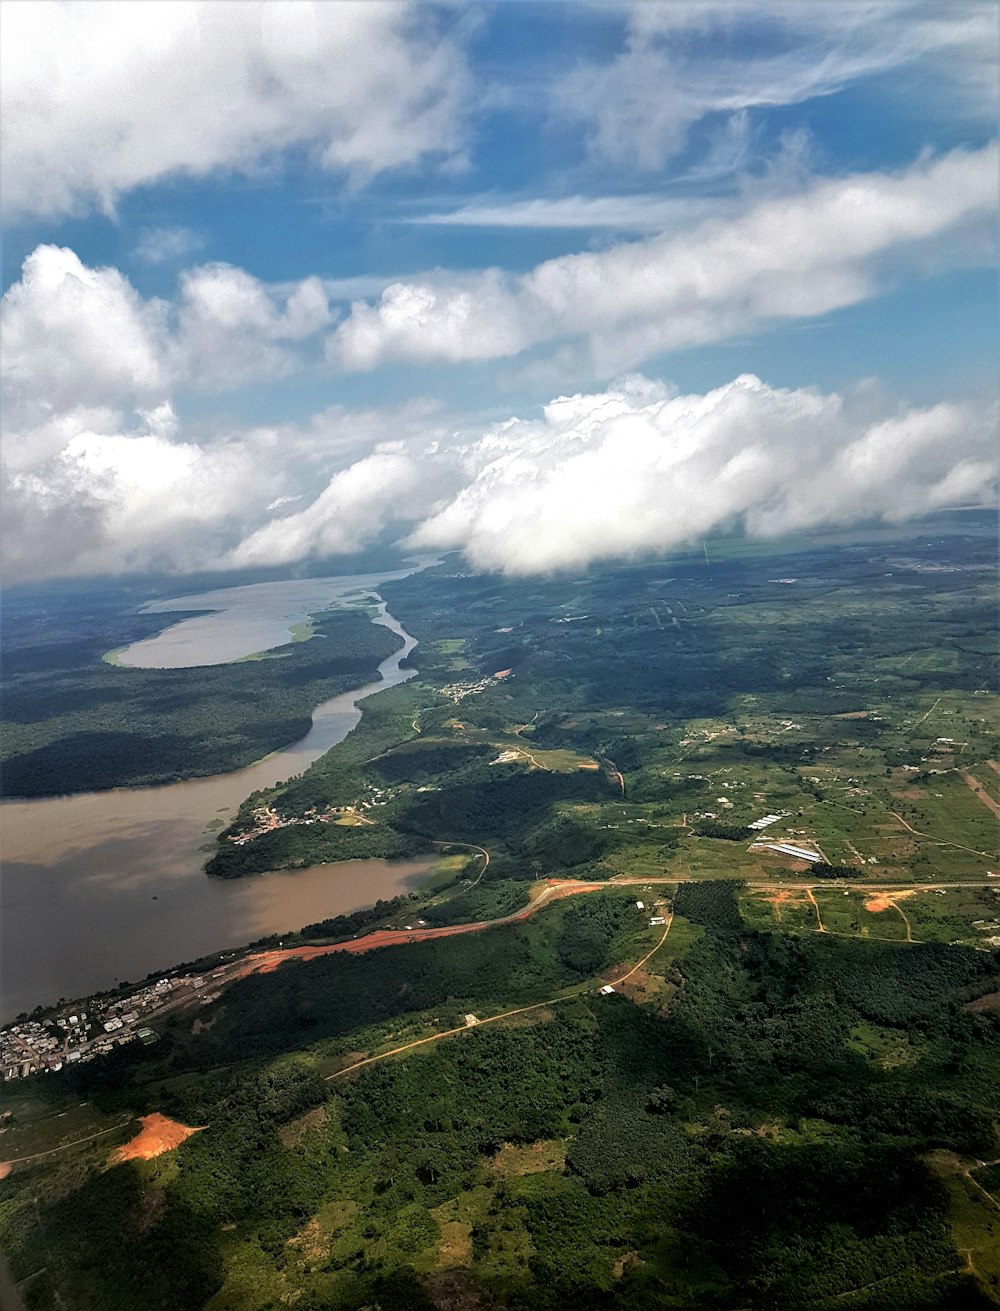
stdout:
<svg viewBox="0 0 1000 1311">
<path fill-rule="evenodd" d="M 3 0 L 9 582 L 993 505 L 993 0 Z"/>
</svg>

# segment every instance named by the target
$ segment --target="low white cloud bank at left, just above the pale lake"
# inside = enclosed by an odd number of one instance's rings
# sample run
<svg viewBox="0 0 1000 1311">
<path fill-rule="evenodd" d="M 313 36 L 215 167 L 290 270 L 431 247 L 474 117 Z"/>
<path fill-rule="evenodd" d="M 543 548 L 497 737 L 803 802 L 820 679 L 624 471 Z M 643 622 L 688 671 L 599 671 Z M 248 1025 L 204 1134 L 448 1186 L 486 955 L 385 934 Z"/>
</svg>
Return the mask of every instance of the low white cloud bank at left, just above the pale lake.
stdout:
<svg viewBox="0 0 1000 1311">
<path fill-rule="evenodd" d="M 434 505 L 434 464 L 423 456 L 444 434 L 422 401 L 189 431 L 169 401 L 131 414 L 77 406 L 5 433 L 4 573 L 14 582 L 187 572 L 233 564 L 240 543 L 246 562 L 350 552 Z M 288 510 L 299 503 L 309 509 L 296 523 Z M 408 515 L 406 506 L 415 509 Z"/>
</svg>

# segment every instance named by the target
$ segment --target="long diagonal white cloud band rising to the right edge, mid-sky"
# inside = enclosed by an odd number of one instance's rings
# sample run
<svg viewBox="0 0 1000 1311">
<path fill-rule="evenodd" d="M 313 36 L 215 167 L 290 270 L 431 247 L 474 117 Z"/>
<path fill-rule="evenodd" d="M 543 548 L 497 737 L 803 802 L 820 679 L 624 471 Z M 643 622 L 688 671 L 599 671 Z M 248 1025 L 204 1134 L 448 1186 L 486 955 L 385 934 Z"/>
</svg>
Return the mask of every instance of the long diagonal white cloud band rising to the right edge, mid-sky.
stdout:
<svg viewBox="0 0 1000 1311">
<path fill-rule="evenodd" d="M 376 304 L 353 305 L 328 355 L 343 368 L 481 361 L 582 336 L 595 372 L 607 375 L 658 351 L 864 300 L 883 286 L 890 256 L 896 267 L 933 266 L 931 244 L 945 233 L 954 258 L 969 231 L 992 231 L 996 172 L 996 146 L 954 151 L 894 174 L 814 181 L 735 218 L 562 256 L 519 277 L 396 282 Z M 986 248 L 969 252 L 982 258 Z"/>
</svg>

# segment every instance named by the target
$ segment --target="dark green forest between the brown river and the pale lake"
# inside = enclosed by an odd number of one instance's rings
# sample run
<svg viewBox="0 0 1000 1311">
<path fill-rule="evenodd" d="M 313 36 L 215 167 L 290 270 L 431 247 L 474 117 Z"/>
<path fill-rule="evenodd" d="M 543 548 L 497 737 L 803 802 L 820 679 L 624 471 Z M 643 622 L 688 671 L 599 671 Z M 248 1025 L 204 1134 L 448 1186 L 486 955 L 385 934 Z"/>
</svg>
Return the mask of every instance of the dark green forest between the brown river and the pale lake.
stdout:
<svg viewBox="0 0 1000 1311">
<path fill-rule="evenodd" d="M 172 783 L 252 764 L 304 737 L 321 701 L 371 680 L 400 645 L 364 615 L 326 612 L 316 621 L 324 640 L 263 659 L 130 669 L 106 663 L 102 652 L 185 616 L 107 614 L 98 602 L 75 598 L 58 623 L 7 620 L 5 796 Z"/>
</svg>

